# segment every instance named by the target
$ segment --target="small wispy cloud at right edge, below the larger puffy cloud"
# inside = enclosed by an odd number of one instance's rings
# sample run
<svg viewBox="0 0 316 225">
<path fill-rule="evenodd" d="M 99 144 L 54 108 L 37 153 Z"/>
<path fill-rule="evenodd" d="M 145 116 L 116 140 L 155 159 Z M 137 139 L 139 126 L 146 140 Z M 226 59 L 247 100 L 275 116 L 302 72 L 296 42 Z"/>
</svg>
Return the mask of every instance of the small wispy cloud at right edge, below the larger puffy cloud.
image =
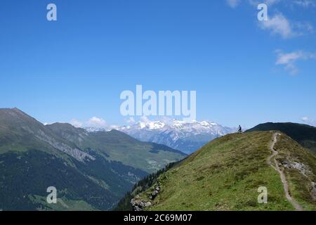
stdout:
<svg viewBox="0 0 316 225">
<path fill-rule="evenodd" d="M 277 50 L 275 53 L 277 53 L 277 61 L 275 65 L 283 65 L 285 70 L 289 70 L 291 75 L 296 75 L 298 73 L 298 68 L 296 66 L 298 60 L 310 60 L 316 58 L 316 54 L 305 51 L 283 53 L 281 50 Z"/>
</svg>

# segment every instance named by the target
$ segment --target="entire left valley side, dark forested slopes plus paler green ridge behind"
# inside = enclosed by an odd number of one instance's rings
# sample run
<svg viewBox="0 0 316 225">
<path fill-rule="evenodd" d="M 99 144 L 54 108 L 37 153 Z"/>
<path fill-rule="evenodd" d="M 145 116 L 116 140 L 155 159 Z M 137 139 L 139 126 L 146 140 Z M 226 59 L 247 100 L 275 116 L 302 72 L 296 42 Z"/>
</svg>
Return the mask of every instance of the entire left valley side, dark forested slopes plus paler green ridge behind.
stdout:
<svg viewBox="0 0 316 225">
<path fill-rule="evenodd" d="M 0 210 L 110 210 L 141 178 L 183 157 L 119 131 L 44 126 L 0 109 Z M 49 186 L 56 205 L 46 203 Z"/>
</svg>

